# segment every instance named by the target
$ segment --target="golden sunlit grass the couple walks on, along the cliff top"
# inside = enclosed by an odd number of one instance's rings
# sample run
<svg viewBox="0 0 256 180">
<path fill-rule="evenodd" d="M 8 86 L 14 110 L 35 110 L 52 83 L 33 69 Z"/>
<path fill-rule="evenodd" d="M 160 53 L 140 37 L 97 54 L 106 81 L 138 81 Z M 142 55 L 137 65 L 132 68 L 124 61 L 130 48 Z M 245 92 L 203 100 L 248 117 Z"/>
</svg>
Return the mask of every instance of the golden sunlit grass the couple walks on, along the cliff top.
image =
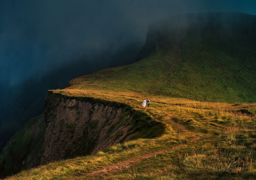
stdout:
<svg viewBox="0 0 256 180">
<path fill-rule="evenodd" d="M 204 174 L 202 178 L 234 174 L 235 177 L 246 179 L 256 175 L 255 115 L 236 112 L 245 107 L 256 108 L 256 104 L 233 106 L 95 89 L 62 89 L 54 92 L 127 103 L 164 123 L 166 132 L 155 139 L 128 141 L 96 155 L 49 163 L 7 179 L 98 179 L 99 176 L 87 177 L 86 173 L 178 144 L 184 145 L 143 159 L 127 170 L 109 172 L 104 179 L 180 179 L 198 173 Z M 151 100 L 151 106 L 143 108 L 142 100 L 147 97 Z M 190 143 L 193 137 L 201 139 Z"/>
</svg>

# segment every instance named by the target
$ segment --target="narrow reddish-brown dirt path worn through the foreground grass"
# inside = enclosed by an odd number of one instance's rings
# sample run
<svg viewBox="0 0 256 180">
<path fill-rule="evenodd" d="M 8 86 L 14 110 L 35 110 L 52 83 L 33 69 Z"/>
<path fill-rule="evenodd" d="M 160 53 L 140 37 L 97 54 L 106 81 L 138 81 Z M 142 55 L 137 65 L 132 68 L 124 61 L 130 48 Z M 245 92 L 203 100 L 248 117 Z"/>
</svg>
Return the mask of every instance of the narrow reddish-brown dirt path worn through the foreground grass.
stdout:
<svg viewBox="0 0 256 180">
<path fill-rule="evenodd" d="M 193 141 L 196 141 L 196 140 L 199 140 L 199 139 L 200 139 L 200 137 L 192 138 L 189 141 L 189 143 L 193 142 Z M 173 150 L 173 149 L 180 148 L 181 146 L 184 146 L 184 144 L 173 146 L 173 147 L 171 147 L 169 149 L 165 149 L 165 150 L 161 150 L 161 151 L 145 154 L 145 155 L 142 155 L 142 156 L 139 156 L 139 157 L 136 157 L 136 158 L 129 159 L 127 161 L 120 161 L 120 162 L 118 162 L 116 164 L 110 164 L 110 165 L 107 165 L 106 167 L 104 167 L 102 169 L 91 171 L 91 172 L 86 173 L 84 175 L 85 176 L 103 176 L 103 175 L 105 175 L 107 173 L 113 173 L 113 172 L 122 171 L 122 170 L 125 170 L 125 169 L 128 169 L 128 168 L 134 166 L 136 163 L 140 162 L 143 159 L 151 158 L 151 157 L 153 157 L 155 155 L 158 155 L 158 154 L 161 154 L 161 153 L 165 153 L 165 152 L 168 152 L 168 151 Z"/>
</svg>

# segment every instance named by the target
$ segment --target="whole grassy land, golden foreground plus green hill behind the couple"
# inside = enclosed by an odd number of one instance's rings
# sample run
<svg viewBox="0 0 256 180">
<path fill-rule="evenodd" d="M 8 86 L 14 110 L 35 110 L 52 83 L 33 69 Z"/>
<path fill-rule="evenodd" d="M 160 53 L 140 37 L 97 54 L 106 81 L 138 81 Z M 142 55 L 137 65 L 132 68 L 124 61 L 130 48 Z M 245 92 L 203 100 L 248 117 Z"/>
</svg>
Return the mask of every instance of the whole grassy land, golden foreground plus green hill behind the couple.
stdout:
<svg viewBox="0 0 256 180">
<path fill-rule="evenodd" d="M 128 104 L 164 124 L 163 134 L 6 179 L 255 179 L 252 22 L 255 16 L 213 13 L 152 25 L 140 53 L 146 58 L 53 92 Z M 150 107 L 142 107 L 145 98 Z"/>
</svg>

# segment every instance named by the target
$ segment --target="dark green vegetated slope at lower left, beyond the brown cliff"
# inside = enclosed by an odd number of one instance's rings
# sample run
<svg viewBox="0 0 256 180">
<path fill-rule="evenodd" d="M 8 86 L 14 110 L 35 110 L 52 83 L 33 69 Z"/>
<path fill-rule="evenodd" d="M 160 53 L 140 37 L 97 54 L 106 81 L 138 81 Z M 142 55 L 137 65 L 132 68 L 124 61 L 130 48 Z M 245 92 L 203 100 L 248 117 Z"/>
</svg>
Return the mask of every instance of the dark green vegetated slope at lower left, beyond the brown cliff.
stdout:
<svg viewBox="0 0 256 180">
<path fill-rule="evenodd" d="M 42 114 L 14 134 L 0 154 L 0 177 L 39 165 L 45 129 Z"/>
</svg>

